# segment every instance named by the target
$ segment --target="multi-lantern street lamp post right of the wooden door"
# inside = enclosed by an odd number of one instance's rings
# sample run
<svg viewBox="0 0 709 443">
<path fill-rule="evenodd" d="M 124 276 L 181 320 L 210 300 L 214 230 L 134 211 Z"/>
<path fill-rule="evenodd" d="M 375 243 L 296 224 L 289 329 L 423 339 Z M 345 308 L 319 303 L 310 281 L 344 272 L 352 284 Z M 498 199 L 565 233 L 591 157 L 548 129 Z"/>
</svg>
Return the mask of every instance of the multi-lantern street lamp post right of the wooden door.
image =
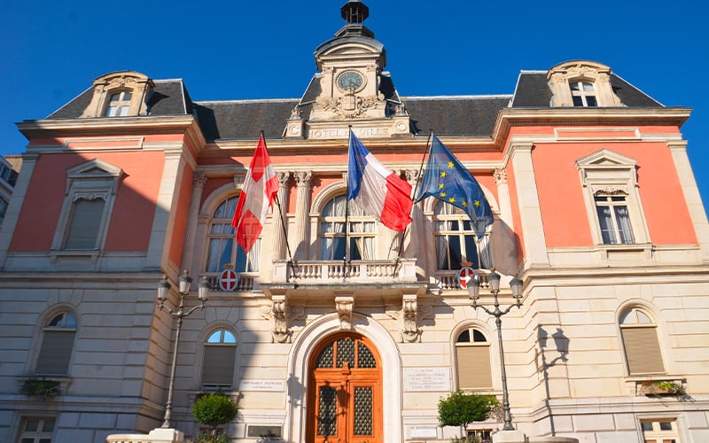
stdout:
<svg viewBox="0 0 709 443">
<path fill-rule="evenodd" d="M 507 372 L 504 369 L 504 349 L 503 349 L 503 315 L 510 312 L 512 307 L 522 306 L 522 281 L 517 277 L 512 278 L 510 281 L 510 289 L 512 290 L 512 297 L 516 300 L 514 305 L 506 307 L 504 310 L 500 309 L 500 302 L 497 299 L 497 294 L 500 293 L 500 275 L 493 271 L 488 277 L 490 283 L 490 292 L 492 292 L 494 297 L 495 309 L 490 310 L 487 307 L 479 306 L 478 299 L 480 297 L 480 284 L 477 279 L 471 279 L 468 284 L 468 292 L 470 293 L 472 300 L 472 307 L 478 309 L 480 307 L 483 311 L 487 312 L 488 315 L 493 315 L 495 317 L 495 324 L 497 325 L 497 344 L 500 347 L 500 367 L 503 374 L 503 411 L 504 411 L 504 426 L 503 431 L 514 431 L 515 428 L 512 426 L 512 416 L 510 414 L 510 397 L 509 392 L 507 392 Z"/>
</svg>

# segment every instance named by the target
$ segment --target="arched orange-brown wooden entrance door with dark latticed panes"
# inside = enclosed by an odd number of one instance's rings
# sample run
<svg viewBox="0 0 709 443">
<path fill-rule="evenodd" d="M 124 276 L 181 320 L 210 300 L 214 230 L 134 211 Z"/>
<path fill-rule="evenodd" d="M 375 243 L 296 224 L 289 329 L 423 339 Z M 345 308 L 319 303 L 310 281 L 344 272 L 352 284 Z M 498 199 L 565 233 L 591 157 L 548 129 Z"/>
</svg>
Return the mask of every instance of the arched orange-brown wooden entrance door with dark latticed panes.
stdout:
<svg viewBox="0 0 709 443">
<path fill-rule="evenodd" d="M 308 442 L 383 442 L 380 362 L 361 335 L 323 340 L 309 363 Z"/>
</svg>

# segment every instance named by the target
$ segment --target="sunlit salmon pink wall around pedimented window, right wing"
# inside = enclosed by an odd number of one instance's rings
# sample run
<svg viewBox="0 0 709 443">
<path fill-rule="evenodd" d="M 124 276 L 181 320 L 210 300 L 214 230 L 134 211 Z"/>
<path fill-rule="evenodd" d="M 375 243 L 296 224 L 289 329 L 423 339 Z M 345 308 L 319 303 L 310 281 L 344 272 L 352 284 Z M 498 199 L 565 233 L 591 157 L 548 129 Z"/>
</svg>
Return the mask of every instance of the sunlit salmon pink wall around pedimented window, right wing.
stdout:
<svg viewBox="0 0 709 443">
<path fill-rule="evenodd" d="M 535 144 L 534 175 L 549 247 L 592 245 L 576 160 L 600 149 L 636 160 L 638 190 L 653 244 L 697 243 L 674 160 L 666 144 Z"/>
</svg>

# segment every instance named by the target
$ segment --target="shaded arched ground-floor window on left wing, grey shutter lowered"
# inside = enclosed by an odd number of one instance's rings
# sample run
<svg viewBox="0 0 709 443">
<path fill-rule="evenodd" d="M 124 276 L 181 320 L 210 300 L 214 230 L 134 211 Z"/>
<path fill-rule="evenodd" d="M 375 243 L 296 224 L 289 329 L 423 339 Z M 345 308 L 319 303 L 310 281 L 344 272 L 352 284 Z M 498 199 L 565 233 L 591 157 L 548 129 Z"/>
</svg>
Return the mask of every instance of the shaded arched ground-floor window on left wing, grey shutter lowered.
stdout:
<svg viewBox="0 0 709 443">
<path fill-rule="evenodd" d="M 54 315 L 42 330 L 42 346 L 37 357 L 35 374 L 66 376 L 69 370 L 76 318 L 68 312 Z"/>
</svg>

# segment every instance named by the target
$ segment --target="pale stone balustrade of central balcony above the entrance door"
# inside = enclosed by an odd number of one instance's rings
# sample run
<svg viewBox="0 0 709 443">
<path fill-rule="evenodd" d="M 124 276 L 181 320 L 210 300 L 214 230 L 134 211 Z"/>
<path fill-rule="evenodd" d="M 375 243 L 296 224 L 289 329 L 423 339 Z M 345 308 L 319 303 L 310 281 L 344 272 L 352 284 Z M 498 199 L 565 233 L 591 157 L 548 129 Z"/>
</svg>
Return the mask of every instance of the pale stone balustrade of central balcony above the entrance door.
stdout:
<svg viewBox="0 0 709 443">
<path fill-rule="evenodd" d="M 416 282 L 416 259 L 273 263 L 273 283 L 341 284 Z"/>
</svg>

